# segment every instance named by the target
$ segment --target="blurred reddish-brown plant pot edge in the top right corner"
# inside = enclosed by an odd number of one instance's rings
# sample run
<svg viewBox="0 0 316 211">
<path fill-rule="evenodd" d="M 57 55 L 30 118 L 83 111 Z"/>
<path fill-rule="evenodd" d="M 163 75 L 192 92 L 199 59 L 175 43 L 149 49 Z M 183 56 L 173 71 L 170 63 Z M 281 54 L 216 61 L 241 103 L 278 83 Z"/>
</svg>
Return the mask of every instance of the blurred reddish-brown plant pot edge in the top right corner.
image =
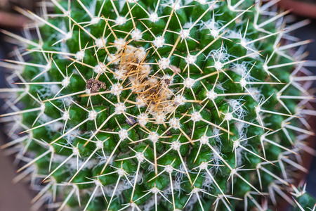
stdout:
<svg viewBox="0 0 316 211">
<path fill-rule="evenodd" d="M 298 15 L 316 18 L 316 0 L 281 0 L 279 6 Z"/>
</svg>

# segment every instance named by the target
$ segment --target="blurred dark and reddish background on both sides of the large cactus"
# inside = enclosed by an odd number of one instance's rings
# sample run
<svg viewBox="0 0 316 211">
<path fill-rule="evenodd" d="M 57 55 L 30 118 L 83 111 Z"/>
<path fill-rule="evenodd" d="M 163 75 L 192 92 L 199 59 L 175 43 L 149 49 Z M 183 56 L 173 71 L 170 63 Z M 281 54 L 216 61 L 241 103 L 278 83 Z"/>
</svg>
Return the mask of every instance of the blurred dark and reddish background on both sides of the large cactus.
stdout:
<svg viewBox="0 0 316 211">
<path fill-rule="evenodd" d="M 314 40 L 308 44 L 305 51 L 310 53 L 307 57 L 308 60 L 316 60 L 316 0 L 281 0 L 279 5 L 284 9 L 291 9 L 296 22 L 306 18 L 311 20 L 309 25 L 294 31 L 293 35 L 301 40 Z M 0 0 L 0 29 L 20 34 L 21 27 L 29 20 L 16 11 L 16 6 L 34 11 L 37 1 Z M 0 59 L 8 58 L 13 48 L 13 44 L 6 42 L 6 35 L 0 33 Z M 315 67 L 310 67 L 308 70 L 316 75 Z M 0 67 L 0 89 L 6 86 L 4 79 L 7 73 L 6 70 Z M 4 101 L 0 98 L 0 113 L 3 105 Z M 3 127 L 4 125 L 0 122 L 0 146 L 8 141 L 6 140 Z M 29 190 L 28 184 L 23 184 L 22 182 L 18 184 L 12 183 L 12 179 L 17 176 L 15 173 L 17 167 L 12 165 L 14 157 L 6 156 L 5 154 L 4 151 L 0 150 L 0 211 L 27 211 L 31 207 L 30 201 L 35 193 Z M 308 192 L 316 197 L 316 158 L 312 160 L 310 174 L 306 177 L 306 181 L 308 183 Z"/>
</svg>

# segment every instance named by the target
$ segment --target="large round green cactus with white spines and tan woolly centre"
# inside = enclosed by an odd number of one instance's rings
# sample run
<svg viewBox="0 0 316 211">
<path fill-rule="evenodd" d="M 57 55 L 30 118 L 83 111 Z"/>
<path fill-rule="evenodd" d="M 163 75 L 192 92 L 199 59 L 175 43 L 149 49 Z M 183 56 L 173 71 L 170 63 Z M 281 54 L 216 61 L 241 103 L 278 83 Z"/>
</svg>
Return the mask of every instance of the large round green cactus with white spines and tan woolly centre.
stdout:
<svg viewBox="0 0 316 211">
<path fill-rule="evenodd" d="M 276 1 L 43 3 L 7 78 L 8 136 L 34 207 L 268 210 L 314 135 L 315 76 Z M 53 8 L 53 13 L 48 13 Z M 37 32 L 31 38 L 29 30 Z M 22 51 L 22 49 L 27 49 Z M 23 109 L 20 109 L 22 105 Z M 312 207 L 313 205 L 310 205 Z M 273 208 L 272 208 L 273 209 Z"/>
</svg>

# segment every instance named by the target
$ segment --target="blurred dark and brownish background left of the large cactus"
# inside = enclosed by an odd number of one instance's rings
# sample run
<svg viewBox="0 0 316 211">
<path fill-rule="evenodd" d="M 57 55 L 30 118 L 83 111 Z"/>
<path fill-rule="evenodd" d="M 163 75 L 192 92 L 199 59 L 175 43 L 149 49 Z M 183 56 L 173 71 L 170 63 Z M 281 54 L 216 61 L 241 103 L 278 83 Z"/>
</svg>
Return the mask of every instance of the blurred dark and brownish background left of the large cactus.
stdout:
<svg viewBox="0 0 316 211">
<path fill-rule="evenodd" d="M 33 0 L 8 1 L 0 0 L 0 29 L 9 30 L 19 33 L 20 27 L 27 22 L 27 19 L 14 11 L 14 6 L 34 8 Z M 0 33 L 0 59 L 8 58 L 8 53 L 13 50 L 13 45 L 5 41 L 4 34 Z M 0 89 L 5 87 L 4 75 L 5 70 L 0 67 Z M 0 106 L 4 105 L 4 101 L 0 98 Z M 2 109 L 0 108 L 0 113 Z M 4 135 L 3 124 L 0 124 L 0 146 L 7 142 Z M 1 211 L 22 211 L 29 210 L 31 207 L 32 193 L 29 191 L 28 184 L 13 184 L 12 179 L 16 177 L 16 167 L 12 165 L 13 156 L 6 156 L 5 152 L 0 150 L 0 210 Z"/>
</svg>

